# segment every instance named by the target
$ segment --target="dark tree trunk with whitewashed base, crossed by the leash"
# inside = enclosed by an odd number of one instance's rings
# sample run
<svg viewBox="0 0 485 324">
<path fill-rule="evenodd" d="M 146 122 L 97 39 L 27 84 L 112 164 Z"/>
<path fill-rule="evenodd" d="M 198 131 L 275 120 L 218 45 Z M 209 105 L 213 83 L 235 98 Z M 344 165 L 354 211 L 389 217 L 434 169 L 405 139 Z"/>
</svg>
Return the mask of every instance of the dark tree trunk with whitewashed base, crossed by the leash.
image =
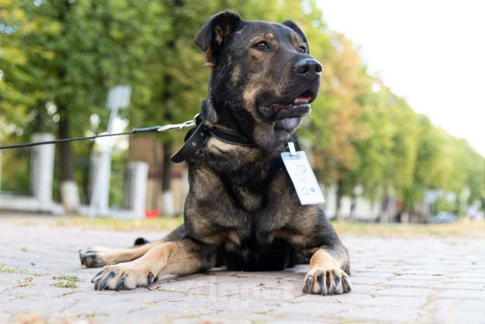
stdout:
<svg viewBox="0 0 485 324">
<path fill-rule="evenodd" d="M 59 138 L 70 137 L 69 118 L 64 115 L 59 120 Z M 74 179 L 74 158 L 71 143 L 60 143 L 61 155 L 61 200 L 66 213 L 76 212 L 79 208 L 79 193 Z"/>
</svg>

